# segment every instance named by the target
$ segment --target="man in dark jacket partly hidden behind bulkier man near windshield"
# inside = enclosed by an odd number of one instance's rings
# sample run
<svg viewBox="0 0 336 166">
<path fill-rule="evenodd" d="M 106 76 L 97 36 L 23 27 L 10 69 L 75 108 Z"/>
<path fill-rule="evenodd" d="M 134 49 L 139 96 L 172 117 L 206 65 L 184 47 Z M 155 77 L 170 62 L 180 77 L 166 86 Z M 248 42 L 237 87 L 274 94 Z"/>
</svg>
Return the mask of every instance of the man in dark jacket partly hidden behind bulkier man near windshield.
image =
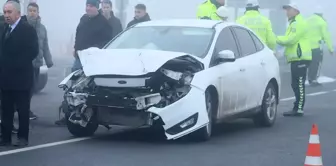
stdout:
<svg viewBox="0 0 336 166">
<path fill-rule="evenodd" d="M 112 38 L 114 38 L 123 30 L 123 28 L 120 20 L 114 16 L 111 0 L 103 0 L 101 12 L 111 26 Z"/>
</svg>

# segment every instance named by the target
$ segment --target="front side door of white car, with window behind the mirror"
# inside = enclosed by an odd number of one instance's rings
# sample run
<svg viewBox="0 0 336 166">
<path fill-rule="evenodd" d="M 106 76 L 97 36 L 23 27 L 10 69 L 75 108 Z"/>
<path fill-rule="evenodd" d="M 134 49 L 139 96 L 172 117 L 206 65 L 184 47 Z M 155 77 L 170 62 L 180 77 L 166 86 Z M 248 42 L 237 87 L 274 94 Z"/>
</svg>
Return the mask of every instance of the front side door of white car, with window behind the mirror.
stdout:
<svg viewBox="0 0 336 166">
<path fill-rule="evenodd" d="M 234 62 L 217 63 L 217 57 L 220 51 L 230 50 L 237 58 Z M 242 111 L 242 103 L 245 98 L 242 97 L 245 88 L 245 71 L 242 68 L 242 61 L 239 60 L 240 52 L 237 42 L 229 27 L 224 28 L 216 41 L 213 56 L 210 62 L 211 72 L 217 72 L 220 75 L 219 86 L 219 118 L 232 115 Z"/>
</svg>

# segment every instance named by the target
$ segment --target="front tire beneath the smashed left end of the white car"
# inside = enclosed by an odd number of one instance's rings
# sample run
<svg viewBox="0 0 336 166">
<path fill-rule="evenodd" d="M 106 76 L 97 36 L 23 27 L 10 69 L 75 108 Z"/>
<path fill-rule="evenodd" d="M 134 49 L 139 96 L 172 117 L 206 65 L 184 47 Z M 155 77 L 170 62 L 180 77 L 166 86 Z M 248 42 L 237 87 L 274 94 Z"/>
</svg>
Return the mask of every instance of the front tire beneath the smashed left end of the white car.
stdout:
<svg viewBox="0 0 336 166">
<path fill-rule="evenodd" d="M 75 137 L 88 137 L 92 136 L 98 129 L 99 124 L 97 122 L 91 121 L 87 124 L 86 127 L 82 127 L 78 124 L 74 124 L 69 121 L 70 113 L 67 113 L 66 118 L 66 125 L 69 132 Z M 94 117 L 93 117 L 94 119 Z"/>
</svg>

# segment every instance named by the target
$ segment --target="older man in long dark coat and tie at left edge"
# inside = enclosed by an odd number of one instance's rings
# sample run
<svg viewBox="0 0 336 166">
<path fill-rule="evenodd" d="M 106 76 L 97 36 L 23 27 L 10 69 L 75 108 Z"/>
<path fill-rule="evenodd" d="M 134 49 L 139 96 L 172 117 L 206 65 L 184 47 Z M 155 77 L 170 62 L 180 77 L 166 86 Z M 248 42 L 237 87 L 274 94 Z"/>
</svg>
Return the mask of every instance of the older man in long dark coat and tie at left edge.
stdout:
<svg viewBox="0 0 336 166">
<path fill-rule="evenodd" d="M 7 2 L 4 16 L 8 26 L 2 34 L 0 56 L 1 140 L 0 146 L 12 143 L 15 108 L 19 114 L 19 132 L 15 146 L 27 146 L 29 138 L 30 95 L 33 86 L 32 61 L 39 52 L 35 29 L 21 18 L 20 4 Z M 19 49 L 18 49 L 19 48 Z"/>
</svg>

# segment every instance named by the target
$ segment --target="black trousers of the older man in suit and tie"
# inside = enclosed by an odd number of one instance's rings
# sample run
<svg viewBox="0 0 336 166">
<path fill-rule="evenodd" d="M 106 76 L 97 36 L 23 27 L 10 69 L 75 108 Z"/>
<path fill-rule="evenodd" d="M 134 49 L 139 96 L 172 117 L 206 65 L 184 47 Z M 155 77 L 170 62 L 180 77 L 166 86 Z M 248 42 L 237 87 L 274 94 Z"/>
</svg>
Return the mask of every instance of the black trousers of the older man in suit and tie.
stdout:
<svg viewBox="0 0 336 166">
<path fill-rule="evenodd" d="M 30 90 L 1 90 L 1 137 L 4 141 L 11 141 L 14 112 L 19 115 L 18 138 L 28 140 Z M 16 108 L 16 109 L 15 109 Z"/>
</svg>

